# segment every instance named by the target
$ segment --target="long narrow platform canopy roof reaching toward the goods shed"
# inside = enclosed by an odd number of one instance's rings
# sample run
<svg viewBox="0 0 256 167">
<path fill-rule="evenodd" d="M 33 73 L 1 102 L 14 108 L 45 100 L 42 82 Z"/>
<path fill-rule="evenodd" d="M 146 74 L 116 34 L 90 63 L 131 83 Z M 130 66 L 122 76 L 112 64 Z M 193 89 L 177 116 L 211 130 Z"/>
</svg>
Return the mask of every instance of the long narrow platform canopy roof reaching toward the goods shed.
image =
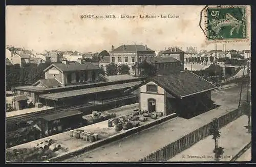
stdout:
<svg viewBox="0 0 256 167">
<path fill-rule="evenodd" d="M 122 84 L 114 84 L 114 85 L 106 85 L 106 86 L 98 86 L 98 87 L 92 87 L 92 88 L 71 90 L 71 91 L 62 91 L 62 92 L 50 93 L 50 94 L 41 94 L 39 97 L 44 98 L 44 99 L 58 101 L 60 99 L 82 96 L 84 94 L 91 94 L 91 93 L 97 93 L 97 92 L 130 88 L 130 87 L 139 85 L 141 82 L 142 81 L 137 81 L 137 82 L 129 82 L 129 83 L 122 83 Z"/>
</svg>

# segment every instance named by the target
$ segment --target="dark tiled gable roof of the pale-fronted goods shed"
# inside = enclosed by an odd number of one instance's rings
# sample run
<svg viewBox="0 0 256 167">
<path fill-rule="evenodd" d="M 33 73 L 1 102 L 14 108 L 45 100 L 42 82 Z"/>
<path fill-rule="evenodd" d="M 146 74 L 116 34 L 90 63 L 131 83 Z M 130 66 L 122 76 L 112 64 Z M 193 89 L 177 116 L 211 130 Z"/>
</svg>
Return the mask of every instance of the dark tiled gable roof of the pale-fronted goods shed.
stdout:
<svg viewBox="0 0 256 167">
<path fill-rule="evenodd" d="M 152 77 L 152 80 L 163 87 L 173 96 L 183 98 L 207 90 L 217 88 L 217 86 L 204 80 L 194 73 L 182 72 Z"/>
</svg>

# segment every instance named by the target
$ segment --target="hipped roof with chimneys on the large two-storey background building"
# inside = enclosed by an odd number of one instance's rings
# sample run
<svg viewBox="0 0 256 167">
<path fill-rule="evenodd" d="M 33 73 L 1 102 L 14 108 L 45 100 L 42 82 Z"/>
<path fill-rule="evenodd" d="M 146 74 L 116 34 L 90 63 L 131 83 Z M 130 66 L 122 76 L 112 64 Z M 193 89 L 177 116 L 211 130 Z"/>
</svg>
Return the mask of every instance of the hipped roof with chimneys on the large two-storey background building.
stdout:
<svg viewBox="0 0 256 167">
<path fill-rule="evenodd" d="M 137 51 L 153 51 L 150 48 L 141 44 L 121 45 L 111 51 L 111 53 L 125 53 L 125 52 L 137 52 Z"/>
</svg>

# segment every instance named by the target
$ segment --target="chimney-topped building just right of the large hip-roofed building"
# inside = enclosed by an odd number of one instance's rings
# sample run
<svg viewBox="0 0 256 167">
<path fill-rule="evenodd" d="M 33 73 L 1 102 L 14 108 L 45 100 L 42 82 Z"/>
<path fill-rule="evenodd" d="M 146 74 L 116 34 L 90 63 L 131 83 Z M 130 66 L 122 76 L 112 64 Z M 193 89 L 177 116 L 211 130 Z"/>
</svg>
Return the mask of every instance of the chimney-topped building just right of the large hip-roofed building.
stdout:
<svg viewBox="0 0 256 167">
<path fill-rule="evenodd" d="M 181 70 L 184 71 L 184 51 L 179 49 L 179 47 L 169 47 L 168 50 L 164 51 L 158 57 L 172 57 L 180 62 L 179 66 L 181 66 Z"/>
</svg>

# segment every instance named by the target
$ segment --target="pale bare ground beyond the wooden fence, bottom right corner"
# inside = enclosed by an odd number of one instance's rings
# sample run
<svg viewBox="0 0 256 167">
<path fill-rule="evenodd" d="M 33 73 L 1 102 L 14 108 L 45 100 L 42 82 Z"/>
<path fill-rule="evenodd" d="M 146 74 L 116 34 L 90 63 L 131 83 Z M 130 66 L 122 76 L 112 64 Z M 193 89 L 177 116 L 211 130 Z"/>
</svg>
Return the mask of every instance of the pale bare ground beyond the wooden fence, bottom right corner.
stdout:
<svg viewBox="0 0 256 167">
<path fill-rule="evenodd" d="M 247 124 L 247 119 L 246 115 L 242 115 L 220 129 L 221 136 L 218 139 L 218 146 L 224 148 L 224 154 L 220 161 L 230 161 L 243 149 L 244 145 L 250 142 L 251 133 L 247 133 L 248 130 L 244 127 Z M 214 139 L 210 135 L 168 161 L 215 161 L 213 150 Z"/>
</svg>

